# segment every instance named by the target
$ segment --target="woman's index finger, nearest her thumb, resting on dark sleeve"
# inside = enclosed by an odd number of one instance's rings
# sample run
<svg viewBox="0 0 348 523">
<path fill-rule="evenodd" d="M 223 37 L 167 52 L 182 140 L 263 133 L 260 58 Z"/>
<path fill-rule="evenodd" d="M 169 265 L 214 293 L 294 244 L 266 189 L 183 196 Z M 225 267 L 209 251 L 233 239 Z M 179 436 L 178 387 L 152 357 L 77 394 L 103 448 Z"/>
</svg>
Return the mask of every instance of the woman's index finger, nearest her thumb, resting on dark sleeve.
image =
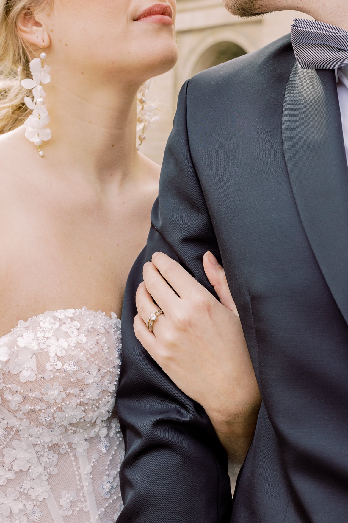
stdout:
<svg viewBox="0 0 348 523">
<path fill-rule="evenodd" d="M 189 298 L 193 291 L 202 288 L 184 267 L 166 254 L 154 253 L 152 263 L 181 298 Z M 153 295 L 149 288 L 148 290 Z"/>
</svg>

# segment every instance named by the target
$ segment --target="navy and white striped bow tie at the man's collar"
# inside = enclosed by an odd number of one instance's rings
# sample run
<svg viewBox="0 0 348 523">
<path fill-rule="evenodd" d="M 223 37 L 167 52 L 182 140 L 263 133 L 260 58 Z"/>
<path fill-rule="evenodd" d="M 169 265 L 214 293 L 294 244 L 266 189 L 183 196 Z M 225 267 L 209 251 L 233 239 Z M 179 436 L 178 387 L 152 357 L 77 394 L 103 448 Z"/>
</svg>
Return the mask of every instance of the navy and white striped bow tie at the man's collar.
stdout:
<svg viewBox="0 0 348 523">
<path fill-rule="evenodd" d="M 302 69 L 337 69 L 348 64 L 348 31 L 316 20 L 294 20 L 292 43 Z"/>
</svg>

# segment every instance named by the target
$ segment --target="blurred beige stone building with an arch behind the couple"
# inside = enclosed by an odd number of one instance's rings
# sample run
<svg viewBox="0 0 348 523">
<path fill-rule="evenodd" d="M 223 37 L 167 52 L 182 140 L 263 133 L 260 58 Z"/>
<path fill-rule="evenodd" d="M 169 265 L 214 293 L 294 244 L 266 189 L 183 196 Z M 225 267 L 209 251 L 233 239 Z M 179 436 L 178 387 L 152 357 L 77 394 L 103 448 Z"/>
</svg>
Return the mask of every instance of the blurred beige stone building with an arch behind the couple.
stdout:
<svg viewBox="0 0 348 523">
<path fill-rule="evenodd" d="M 291 30 L 294 18 L 309 18 L 299 12 L 270 13 L 243 20 L 226 12 L 221 0 L 177 0 L 176 38 L 179 59 L 175 68 L 152 83 L 162 111 L 147 132 L 141 152 L 161 164 L 172 129 L 179 90 L 194 74 L 241 54 L 256 51 Z M 202 100 L 202 103 L 205 103 Z"/>
</svg>

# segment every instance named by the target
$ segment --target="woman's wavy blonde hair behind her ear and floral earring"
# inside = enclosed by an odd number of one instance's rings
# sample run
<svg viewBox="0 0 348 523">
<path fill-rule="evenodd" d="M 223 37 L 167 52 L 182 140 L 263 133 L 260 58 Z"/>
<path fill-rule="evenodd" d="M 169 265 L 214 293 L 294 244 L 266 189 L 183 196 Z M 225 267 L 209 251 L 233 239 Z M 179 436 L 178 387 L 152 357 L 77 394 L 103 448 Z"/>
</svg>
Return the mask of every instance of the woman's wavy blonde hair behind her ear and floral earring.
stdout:
<svg viewBox="0 0 348 523">
<path fill-rule="evenodd" d="M 18 31 L 21 12 L 52 0 L 0 0 L 0 134 L 19 127 L 28 116 L 23 102 L 28 93 L 20 85 L 30 77 L 30 57 Z"/>
</svg>

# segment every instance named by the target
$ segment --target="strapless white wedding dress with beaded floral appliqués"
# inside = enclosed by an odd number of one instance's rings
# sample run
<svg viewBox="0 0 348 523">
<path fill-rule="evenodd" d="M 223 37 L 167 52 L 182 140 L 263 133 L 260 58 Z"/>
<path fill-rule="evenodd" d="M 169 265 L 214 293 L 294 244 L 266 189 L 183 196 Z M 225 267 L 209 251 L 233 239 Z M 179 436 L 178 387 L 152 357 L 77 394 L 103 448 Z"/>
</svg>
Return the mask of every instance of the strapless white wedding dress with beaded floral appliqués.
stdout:
<svg viewBox="0 0 348 523">
<path fill-rule="evenodd" d="M 45 312 L 0 338 L 0 523 L 114 523 L 121 322 Z"/>
</svg>

